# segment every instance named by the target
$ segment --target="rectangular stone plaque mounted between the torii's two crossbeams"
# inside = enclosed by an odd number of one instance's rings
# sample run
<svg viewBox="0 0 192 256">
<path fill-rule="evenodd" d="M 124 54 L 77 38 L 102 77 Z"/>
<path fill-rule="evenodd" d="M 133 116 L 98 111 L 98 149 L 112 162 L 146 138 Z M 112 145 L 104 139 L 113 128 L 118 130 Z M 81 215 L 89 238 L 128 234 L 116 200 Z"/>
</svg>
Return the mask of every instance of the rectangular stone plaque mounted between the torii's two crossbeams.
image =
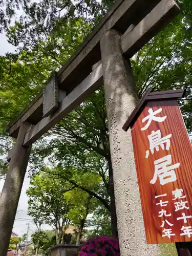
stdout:
<svg viewBox="0 0 192 256">
<path fill-rule="evenodd" d="M 44 88 L 43 97 L 43 116 L 48 117 L 58 108 L 58 83 L 56 72 L 54 72 L 47 81 L 47 84 Z"/>
</svg>

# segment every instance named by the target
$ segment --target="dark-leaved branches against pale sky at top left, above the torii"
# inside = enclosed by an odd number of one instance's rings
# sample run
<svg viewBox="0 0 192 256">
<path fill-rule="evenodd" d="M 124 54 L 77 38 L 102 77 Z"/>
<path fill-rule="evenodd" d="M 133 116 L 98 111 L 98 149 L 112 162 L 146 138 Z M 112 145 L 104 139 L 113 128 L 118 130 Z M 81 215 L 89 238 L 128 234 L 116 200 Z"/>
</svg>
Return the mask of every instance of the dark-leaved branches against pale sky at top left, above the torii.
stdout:
<svg viewBox="0 0 192 256">
<path fill-rule="evenodd" d="M 22 10 L 20 17 L 16 18 L 19 30 L 19 40 L 23 47 L 31 47 L 31 43 L 50 36 L 50 33 L 58 31 L 63 23 L 70 18 L 85 17 L 86 21 L 92 23 L 92 27 L 103 16 L 113 1 L 102 0 L 41 0 L 38 2 L 30 0 L 2 0 L 0 2 L 0 32 L 7 31 L 11 21 L 14 20 L 17 10 Z M 36 37 L 34 37 L 34 34 Z M 24 36 L 23 36 L 24 35 Z M 26 39 L 25 39 L 26 35 Z M 13 40 L 12 40 L 13 39 Z M 10 38 L 14 45 L 18 40 Z"/>
</svg>

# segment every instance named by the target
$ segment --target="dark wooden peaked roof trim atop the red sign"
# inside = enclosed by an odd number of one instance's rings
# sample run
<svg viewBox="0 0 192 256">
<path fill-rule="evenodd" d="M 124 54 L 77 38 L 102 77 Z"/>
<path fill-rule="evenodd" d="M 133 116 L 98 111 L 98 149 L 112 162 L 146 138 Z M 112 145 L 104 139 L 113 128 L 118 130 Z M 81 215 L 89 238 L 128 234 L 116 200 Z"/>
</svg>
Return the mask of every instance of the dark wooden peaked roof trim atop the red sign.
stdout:
<svg viewBox="0 0 192 256">
<path fill-rule="evenodd" d="M 145 104 L 149 100 L 163 100 L 163 99 L 181 99 L 185 95 L 185 89 L 179 90 L 171 90 L 171 91 L 163 91 L 163 92 L 151 92 L 151 88 L 146 91 L 140 101 L 137 103 L 134 111 L 130 115 L 130 117 L 126 120 L 125 124 L 123 125 L 122 129 L 126 132 L 130 126 L 134 124 L 137 120 L 138 115 L 144 108 Z"/>
</svg>

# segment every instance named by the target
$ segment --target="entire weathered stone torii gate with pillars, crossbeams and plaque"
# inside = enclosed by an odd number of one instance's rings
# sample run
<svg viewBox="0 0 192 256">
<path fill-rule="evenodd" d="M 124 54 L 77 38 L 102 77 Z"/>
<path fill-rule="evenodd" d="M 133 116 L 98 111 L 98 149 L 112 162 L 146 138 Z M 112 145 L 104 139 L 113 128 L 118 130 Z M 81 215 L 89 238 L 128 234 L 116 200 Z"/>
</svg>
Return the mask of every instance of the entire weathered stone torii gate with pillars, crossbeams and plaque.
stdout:
<svg viewBox="0 0 192 256">
<path fill-rule="evenodd" d="M 44 93 L 8 125 L 17 139 L 0 198 L 1 256 L 7 255 L 32 143 L 103 84 L 121 256 L 162 255 L 158 245 L 145 242 L 132 138 L 122 126 L 138 101 L 129 59 L 178 13 L 174 0 L 117 1 Z"/>
</svg>

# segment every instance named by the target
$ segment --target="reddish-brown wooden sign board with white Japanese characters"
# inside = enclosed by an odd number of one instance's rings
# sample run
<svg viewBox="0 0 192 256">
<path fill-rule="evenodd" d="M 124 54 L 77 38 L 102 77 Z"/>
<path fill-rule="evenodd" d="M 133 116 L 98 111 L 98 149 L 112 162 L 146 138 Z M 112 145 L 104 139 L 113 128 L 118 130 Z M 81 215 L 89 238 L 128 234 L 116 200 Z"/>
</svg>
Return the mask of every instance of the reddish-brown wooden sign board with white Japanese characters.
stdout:
<svg viewBox="0 0 192 256">
<path fill-rule="evenodd" d="M 148 101 L 131 132 L 147 243 L 192 241 L 192 149 L 177 100 Z"/>
</svg>

